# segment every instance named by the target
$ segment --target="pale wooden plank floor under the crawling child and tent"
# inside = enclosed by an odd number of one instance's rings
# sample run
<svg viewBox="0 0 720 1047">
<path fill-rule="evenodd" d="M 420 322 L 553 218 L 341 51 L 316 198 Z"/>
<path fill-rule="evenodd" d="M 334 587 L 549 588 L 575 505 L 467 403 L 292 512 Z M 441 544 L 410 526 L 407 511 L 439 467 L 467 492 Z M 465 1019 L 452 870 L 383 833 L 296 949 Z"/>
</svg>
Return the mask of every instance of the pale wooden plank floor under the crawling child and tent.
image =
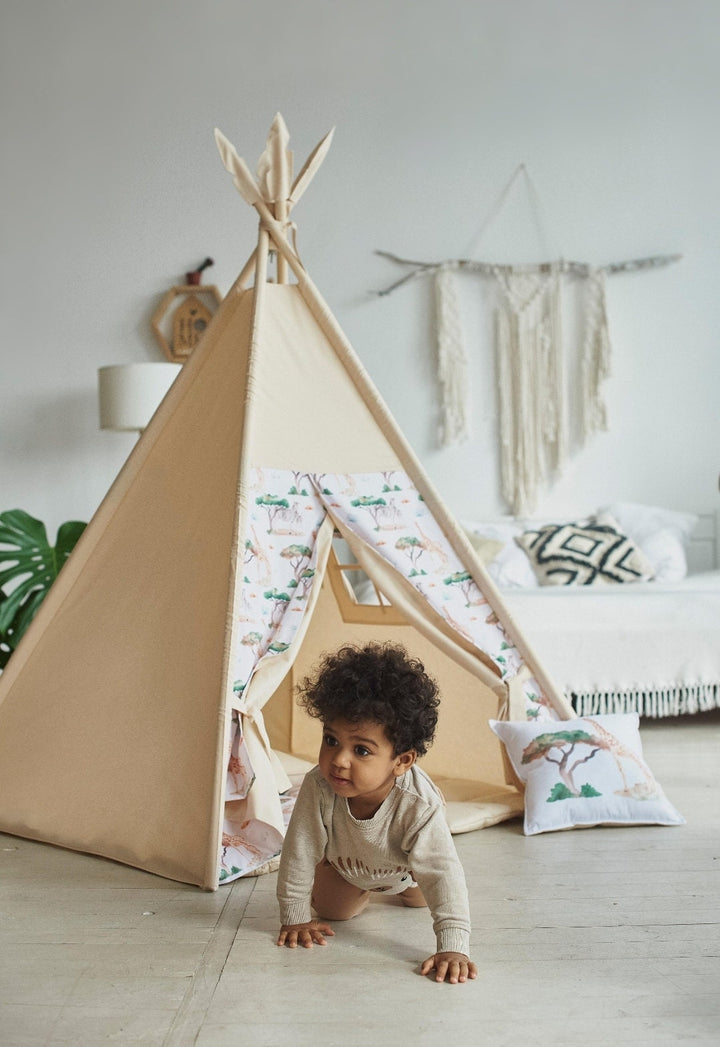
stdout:
<svg viewBox="0 0 720 1047">
<path fill-rule="evenodd" d="M 274 944 L 275 875 L 206 894 L 0 836 L 0 1044 L 720 1043 L 720 717 L 643 723 L 688 825 L 456 838 L 477 981 L 418 974 L 426 911 Z"/>
</svg>

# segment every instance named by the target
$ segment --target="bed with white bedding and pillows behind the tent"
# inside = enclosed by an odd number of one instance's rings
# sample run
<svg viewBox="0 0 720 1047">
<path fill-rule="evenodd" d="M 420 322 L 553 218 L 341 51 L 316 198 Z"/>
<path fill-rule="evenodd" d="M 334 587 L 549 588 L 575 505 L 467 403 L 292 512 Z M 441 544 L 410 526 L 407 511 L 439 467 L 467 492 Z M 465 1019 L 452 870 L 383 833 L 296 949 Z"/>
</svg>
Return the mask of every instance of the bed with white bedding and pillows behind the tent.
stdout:
<svg viewBox="0 0 720 1047">
<path fill-rule="evenodd" d="M 588 520 L 610 521 L 627 539 L 631 552 L 621 551 L 621 559 L 634 570 L 618 584 L 594 576 L 584 584 L 561 563 L 563 583 L 553 584 L 558 578 L 543 576 L 534 558 L 543 529 L 564 529 L 554 533 L 553 545 L 545 541 L 550 562 L 554 552 L 580 548 L 581 539 L 590 548 L 583 533 Z M 464 526 L 518 626 L 580 715 L 660 717 L 720 707 L 715 514 L 615 504 L 580 521 Z M 557 558 L 553 562 L 557 566 Z"/>
</svg>

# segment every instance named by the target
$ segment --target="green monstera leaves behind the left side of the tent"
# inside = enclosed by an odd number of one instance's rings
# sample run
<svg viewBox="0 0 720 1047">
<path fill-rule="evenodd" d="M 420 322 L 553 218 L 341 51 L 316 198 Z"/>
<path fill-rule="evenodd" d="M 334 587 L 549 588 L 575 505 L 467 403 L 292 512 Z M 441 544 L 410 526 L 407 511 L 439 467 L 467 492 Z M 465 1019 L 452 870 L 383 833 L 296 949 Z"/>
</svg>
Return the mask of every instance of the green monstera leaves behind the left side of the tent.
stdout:
<svg viewBox="0 0 720 1047">
<path fill-rule="evenodd" d="M 53 547 L 45 525 L 29 513 L 22 509 L 0 513 L 0 668 L 7 664 L 84 530 L 80 520 L 62 524 Z"/>
</svg>

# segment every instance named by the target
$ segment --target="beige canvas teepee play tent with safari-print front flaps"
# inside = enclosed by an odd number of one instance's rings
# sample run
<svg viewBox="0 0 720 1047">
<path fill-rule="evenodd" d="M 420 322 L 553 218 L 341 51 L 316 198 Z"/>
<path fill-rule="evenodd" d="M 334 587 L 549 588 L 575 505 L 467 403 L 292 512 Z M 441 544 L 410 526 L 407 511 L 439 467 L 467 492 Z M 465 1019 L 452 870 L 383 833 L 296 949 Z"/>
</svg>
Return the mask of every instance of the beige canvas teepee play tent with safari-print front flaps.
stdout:
<svg viewBox="0 0 720 1047">
<path fill-rule="evenodd" d="M 210 890 L 279 850 L 317 743 L 293 683 L 322 650 L 426 662 L 457 830 L 521 808 L 498 708 L 571 714 L 291 246 L 330 136 L 294 181 L 279 117 L 256 177 L 218 142 L 256 250 L 0 677 L 0 829 Z"/>
</svg>

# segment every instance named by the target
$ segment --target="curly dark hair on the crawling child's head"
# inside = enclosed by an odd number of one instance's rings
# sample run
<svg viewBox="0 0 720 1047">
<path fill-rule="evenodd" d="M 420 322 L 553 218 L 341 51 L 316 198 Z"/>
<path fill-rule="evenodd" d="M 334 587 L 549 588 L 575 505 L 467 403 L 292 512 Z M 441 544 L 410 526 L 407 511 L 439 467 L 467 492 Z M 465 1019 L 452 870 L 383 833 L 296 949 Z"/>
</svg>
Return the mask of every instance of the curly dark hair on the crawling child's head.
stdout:
<svg viewBox="0 0 720 1047">
<path fill-rule="evenodd" d="M 380 723 L 396 756 L 427 753 L 437 725 L 437 685 L 399 644 L 345 645 L 325 654 L 298 688 L 311 716 Z"/>
</svg>

